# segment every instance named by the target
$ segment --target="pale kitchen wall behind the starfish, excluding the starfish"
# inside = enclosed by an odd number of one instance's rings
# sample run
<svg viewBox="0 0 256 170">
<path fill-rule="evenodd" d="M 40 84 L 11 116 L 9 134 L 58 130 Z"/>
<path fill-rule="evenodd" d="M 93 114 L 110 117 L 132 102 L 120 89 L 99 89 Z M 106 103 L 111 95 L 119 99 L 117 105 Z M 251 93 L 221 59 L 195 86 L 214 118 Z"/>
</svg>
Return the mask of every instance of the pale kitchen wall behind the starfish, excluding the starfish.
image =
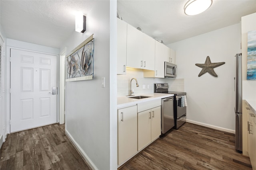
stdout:
<svg viewBox="0 0 256 170">
<path fill-rule="evenodd" d="M 241 24 L 235 24 L 168 45 L 176 51 L 177 78 L 185 79 L 187 120 L 234 133 L 234 74 L 236 53 L 241 53 Z M 218 77 L 206 73 L 198 77 L 209 56 Z"/>
</svg>

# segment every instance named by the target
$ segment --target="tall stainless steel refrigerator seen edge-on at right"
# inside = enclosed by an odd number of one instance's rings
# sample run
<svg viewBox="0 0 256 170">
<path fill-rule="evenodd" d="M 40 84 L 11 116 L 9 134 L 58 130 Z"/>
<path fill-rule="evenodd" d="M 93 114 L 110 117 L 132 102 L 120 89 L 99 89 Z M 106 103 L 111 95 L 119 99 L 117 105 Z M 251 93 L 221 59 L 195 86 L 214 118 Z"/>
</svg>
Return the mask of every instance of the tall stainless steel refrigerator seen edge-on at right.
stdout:
<svg viewBox="0 0 256 170">
<path fill-rule="evenodd" d="M 242 153 L 242 53 L 236 54 L 235 114 L 236 114 L 236 150 Z"/>
</svg>

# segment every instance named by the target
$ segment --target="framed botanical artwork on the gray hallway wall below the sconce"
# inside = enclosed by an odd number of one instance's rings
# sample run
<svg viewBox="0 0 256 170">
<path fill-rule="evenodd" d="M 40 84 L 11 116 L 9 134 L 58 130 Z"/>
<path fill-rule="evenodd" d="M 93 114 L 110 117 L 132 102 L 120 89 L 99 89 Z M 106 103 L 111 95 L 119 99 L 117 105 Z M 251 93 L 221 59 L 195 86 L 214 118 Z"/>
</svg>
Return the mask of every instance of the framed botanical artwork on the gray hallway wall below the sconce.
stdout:
<svg viewBox="0 0 256 170">
<path fill-rule="evenodd" d="M 91 35 L 66 55 L 66 82 L 91 80 L 94 76 L 94 38 Z"/>
</svg>

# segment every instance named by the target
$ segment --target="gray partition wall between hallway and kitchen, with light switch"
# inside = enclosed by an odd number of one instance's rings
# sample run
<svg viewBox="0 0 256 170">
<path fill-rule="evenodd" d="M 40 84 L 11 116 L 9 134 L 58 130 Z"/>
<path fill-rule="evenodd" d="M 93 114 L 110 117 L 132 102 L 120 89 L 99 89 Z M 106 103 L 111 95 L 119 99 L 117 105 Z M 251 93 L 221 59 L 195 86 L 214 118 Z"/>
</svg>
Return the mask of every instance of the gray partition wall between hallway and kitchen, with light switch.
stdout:
<svg viewBox="0 0 256 170">
<path fill-rule="evenodd" d="M 116 105 L 116 100 L 110 102 L 110 89 L 113 88 L 110 86 L 110 6 L 113 3 L 116 2 L 88 1 L 91 10 L 86 14 L 86 31 L 74 31 L 60 50 L 66 48 L 68 54 L 94 34 L 93 80 L 66 82 L 66 132 L 89 164 L 95 169 L 102 170 L 110 169 L 113 164 L 117 166 L 116 135 L 110 134 L 110 122 L 111 119 L 115 119 L 110 116 L 110 105 L 111 102 L 113 106 Z M 113 19 L 116 19 L 115 10 Z M 116 66 L 112 69 L 115 70 L 113 75 L 116 74 Z M 105 88 L 101 87 L 102 77 L 106 78 Z M 116 78 L 114 80 L 116 81 Z M 112 98 L 116 99 L 116 93 Z M 115 111 L 111 114 L 117 115 L 116 107 L 114 108 Z M 116 120 L 117 118 L 115 123 Z M 116 133 L 117 130 L 114 128 L 113 134 Z M 114 151 L 110 151 L 111 146 Z"/>
</svg>

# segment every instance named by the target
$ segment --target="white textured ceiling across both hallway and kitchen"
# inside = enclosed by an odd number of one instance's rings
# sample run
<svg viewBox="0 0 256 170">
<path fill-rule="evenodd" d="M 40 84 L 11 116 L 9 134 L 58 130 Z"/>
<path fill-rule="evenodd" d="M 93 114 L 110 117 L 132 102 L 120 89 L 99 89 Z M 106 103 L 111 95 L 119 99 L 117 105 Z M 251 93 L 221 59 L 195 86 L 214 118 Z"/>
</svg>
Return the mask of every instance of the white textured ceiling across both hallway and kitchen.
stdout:
<svg viewBox="0 0 256 170">
<path fill-rule="evenodd" d="M 122 19 L 165 44 L 239 23 L 256 12 L 256 0 L 213 0 L 197 16 L 183 12 L 185 0 L 118 0 Z M 74 31 L 74 12 L 97 8 L 93 0 L 0 0 L 0 23 L 7 38 L 60 48 Z M 90 18 L 86 18 L 90 20 Z"/>
</svg>

